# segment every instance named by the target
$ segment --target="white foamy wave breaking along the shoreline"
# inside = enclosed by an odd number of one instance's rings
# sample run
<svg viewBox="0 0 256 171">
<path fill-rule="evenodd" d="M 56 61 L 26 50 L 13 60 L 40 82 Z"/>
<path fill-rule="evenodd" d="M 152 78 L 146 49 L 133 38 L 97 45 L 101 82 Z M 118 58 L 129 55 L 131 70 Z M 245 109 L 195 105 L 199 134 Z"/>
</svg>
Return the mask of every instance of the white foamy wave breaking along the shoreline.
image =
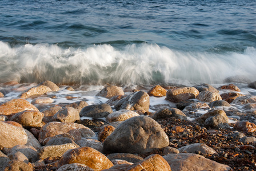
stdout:
<svg viewBox="0 0 256 171">
<path fill-rule="evenodd" d="M 256 50 L 192 52 L 158 44 L 127 44 L 117 48 L 99 44 L 63 48 L 57 44 L 10 47 L 0 41 L 1 82 L 16 80 L 57 84 L 221 83 L 233 75 L 255 78 Z"/>
</svg>

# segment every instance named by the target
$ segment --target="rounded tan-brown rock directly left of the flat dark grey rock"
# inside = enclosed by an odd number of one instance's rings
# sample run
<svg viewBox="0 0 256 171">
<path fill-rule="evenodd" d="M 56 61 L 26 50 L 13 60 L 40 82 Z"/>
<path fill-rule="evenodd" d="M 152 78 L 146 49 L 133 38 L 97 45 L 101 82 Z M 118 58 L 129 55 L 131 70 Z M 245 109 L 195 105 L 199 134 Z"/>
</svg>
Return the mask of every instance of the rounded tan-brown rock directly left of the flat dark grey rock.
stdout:
<svg viewBox="0 0 256 171">
<path fill-rule="evenodd" d="M 74 123 L 76 120 L 80 120 L 80 116 L 76 109 L 65 107 L 55 113 L 51 120 L 61 121 L 62 123 Z"/>
</svg>

